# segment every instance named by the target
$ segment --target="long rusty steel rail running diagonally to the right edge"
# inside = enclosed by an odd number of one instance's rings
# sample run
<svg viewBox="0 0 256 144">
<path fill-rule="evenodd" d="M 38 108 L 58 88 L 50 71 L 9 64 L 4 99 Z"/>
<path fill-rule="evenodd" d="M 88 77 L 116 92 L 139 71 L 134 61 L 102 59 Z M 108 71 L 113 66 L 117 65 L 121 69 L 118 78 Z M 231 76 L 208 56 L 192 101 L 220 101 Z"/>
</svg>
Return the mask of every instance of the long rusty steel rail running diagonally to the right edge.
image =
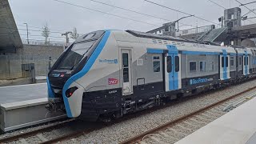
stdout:
<svg viewBox="0 0 256 144">
<path fill-rule="evenodd" d="M 148 134 L 153 134 L 153 133 L 155 133 L 155 132 L 157 132 L 159 130 L 164 130 L 167 127 L 174 126 L 175 124 L 177 124 L 179 122 L 183 122 L 186 119 L 188 119 L 188 118 L 190 118 L 190 117 L 192 117 L 192 116 L 194 116 L 196 114 L 200 114 L 200 113 L 202 113 L 202 112 L 204 112 L 204 111 L 206 111 L 206 110 L 208 110 L 208 109 L 210 109 L 210 108 L 212 108 L 214 106 L 218 106 L 218 105 L 222 104 L 223 102 L 227 102 L 227 101 L 229 101 L 232 98 L 236 98 L 236 97 L 240 96 L 241 94 L 245 94 L 245 93 L 249 92 L 250 90 L 254 90 L 254 89 L 256 89 L 256 86 L 254 86 L 254 87 L 252 87 L 250 89 L 244 90 L 244 91 L 242 91 L 242 92 L 240 92 L 238 94 L 234 94 L 233 96 L 231 96 L 229 98 L 225 98 L 225 99 L 223 99 L 221 101 L 215 102 L 214 104 L 211 104 L 210 106 L 206 106 L 206 107 L 204 107 L 204 108 L 202 108 L 200 110 L 196 110 L 196 111 L 194 111 L 194 112 L 192 112 L 190 114 L 187 114 L 187 115 L 183 116 L 182 118 L 175 119 L 174 121 L 167 122 L 167 123 L 165 123 L 165 124 L 163 124 L 161 126 L 155 127 L 154 129 L 148 130 L 148 131 L 146 131 L 146 132 L 144 132 L 142 134 L 138 134 L 138 135 L 136 135 L 133 138 L 129 138 L 126 141 L 121 142 L 121 144 L 128 144 L 128 143 L 130 144 L 130 143 L 139 142 L 139 141 L 142 140 L 142 138 L 144 136 L 146 136 Z"/>
</svg>

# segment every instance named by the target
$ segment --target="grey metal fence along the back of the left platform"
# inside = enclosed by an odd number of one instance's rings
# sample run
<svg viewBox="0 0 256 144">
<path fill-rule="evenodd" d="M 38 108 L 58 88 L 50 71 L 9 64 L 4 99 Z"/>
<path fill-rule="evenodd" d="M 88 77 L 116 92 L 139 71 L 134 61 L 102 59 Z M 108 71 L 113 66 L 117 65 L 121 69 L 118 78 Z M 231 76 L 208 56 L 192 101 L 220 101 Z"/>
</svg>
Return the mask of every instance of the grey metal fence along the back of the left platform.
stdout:
<svg viewBox="0 0 256 144">
<path fill-rule="evenodd" d="M 31 78 L 46 76 L 57 58 L 30 55 L 0 55 L 0 79 Z"/>
</svg>

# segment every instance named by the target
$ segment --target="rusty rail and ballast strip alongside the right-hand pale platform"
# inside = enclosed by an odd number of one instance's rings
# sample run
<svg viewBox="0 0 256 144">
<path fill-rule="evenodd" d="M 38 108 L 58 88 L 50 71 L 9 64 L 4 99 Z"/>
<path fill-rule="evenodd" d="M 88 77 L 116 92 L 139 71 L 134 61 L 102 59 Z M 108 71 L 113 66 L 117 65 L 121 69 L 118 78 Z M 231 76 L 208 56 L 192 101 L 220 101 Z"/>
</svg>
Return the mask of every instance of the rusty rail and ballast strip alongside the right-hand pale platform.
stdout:
<svg viewBox="0 0 256 144">
<path fill-rule="evenodd" d="M 235 107 L 242 105 L 242 103 L 254 98 L 256 93 L 247 95 L 247 92 L 256 90 L 256 86 L 242 91 L 238 94 L 234 94 L 229 98 L 225 98 L 222 101 L 215 102 L 210 106 L 206 106 L 193 113 L 187 114 L 182 118 L 178 118 L 172 122 L 167 122 L 162 126 L 155 127 L 142 134 L 138 134 L 133 138 L 130 138 L 122 144 L 127 143 L 174 143 L 178 140 L 185 138 L 187 135 L 198 130 L 202 126 L 213 122 L 215 119 L 226 114 L 228 111 L 233 110 Z"/>
</svg>

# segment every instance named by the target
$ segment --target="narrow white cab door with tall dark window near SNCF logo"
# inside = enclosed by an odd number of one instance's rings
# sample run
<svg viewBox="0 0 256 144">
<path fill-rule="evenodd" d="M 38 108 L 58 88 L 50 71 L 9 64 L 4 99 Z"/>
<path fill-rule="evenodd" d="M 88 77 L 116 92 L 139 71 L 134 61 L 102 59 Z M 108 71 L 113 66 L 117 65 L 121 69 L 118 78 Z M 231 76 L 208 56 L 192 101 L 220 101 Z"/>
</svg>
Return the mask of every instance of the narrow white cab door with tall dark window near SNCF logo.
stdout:
<svg viewBox="0 0 256 144">
<path fill-rule="evenodd" d="M 121 50 L 122 52 L 122 95 L 133 93 L 131 78 L 131 50 Z"/>
</svg>

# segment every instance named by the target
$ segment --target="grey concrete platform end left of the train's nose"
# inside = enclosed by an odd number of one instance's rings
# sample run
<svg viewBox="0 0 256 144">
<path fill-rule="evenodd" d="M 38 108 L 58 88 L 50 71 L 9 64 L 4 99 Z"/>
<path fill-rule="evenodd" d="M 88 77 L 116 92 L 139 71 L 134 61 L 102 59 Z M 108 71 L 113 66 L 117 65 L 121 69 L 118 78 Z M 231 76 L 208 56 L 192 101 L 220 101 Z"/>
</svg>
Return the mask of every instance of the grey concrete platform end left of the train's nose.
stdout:
<svg viewBox="0 0 256 144">
<path fill-rule="evenodd" d="M 66 113 L 46 110 L 47 84 L 0 87 L 0 130 L 7 132 L 66 118 Z"/>
</svg>

